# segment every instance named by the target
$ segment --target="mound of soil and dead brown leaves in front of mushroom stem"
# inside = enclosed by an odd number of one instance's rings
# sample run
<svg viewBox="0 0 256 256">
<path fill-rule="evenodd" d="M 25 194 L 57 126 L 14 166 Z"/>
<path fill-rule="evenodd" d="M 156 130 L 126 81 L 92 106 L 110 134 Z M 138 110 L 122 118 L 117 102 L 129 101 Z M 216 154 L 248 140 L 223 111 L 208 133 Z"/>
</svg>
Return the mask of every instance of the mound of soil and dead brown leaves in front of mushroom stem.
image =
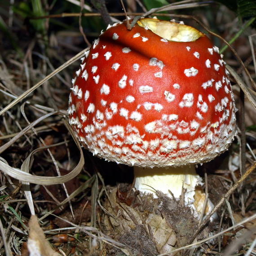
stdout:
<svg viewBox="0 0 256 256">
<path fill-rule="evenodd" d="M 109 212 L 103 219 L 104 233 L 128 245 L 134 255 L 172 254 L 175 247 L 188 243 L 198 225 L 190 207 L 161 194 L 138 194 L 128 185 L 110 189 Z M 112 248 L 110 255 L 118 255 Z"/>
</svg>

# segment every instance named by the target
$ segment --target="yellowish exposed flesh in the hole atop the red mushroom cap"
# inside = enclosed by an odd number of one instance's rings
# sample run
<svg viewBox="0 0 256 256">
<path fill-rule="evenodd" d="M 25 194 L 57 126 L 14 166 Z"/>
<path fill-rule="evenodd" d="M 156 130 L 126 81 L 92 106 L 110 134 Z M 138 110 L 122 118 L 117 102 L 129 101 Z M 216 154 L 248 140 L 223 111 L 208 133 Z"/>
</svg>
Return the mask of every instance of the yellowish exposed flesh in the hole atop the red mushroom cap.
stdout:
<svg viewBox="0 0 256 256">
<path fill-rule="evenodd" d="M 170 41 L 192 42 L 203 36 L 203 33 L 192 26 L 155 18 L 143 18 L 137 24 Z"/>
</svg>

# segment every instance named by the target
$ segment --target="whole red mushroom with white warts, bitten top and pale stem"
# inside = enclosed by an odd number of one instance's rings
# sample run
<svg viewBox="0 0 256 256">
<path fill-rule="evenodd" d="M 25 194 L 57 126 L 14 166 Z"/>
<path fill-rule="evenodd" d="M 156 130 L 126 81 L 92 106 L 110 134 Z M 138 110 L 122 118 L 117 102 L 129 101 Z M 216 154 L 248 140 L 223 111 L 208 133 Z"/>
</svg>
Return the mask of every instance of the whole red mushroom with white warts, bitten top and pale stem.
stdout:
<svg viewBox="0 0 256 256">
<path fill-rule="evenodd" d="M 144 18 L 114 24 L 85 52 L 68 113 L 93 154 L 134 166 L 135 187 L 194 201 L 194 165 L 230 146 L 235 107 L 219 50 L 197 29 Z M 154 194 L 155 195 L 155 194 Z"/>
</svg>

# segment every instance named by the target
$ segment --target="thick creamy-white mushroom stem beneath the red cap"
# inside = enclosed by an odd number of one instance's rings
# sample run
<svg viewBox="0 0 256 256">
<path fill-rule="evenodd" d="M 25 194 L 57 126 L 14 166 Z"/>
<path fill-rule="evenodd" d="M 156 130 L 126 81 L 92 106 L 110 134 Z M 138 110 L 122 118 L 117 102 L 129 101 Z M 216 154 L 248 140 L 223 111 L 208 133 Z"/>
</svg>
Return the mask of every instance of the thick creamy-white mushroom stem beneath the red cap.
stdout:
<svg viewBox="0 0 256 256">
<path fill-rule="evenodd" d="M 172 192 L 178 199 L 182 193 L 182 186 L 186 189 L 185 203 L 194 202 L 195 186 L 202 183 L 196 173 L 194 165 L 169 168 L 140 168 L 134 167 L 134 186 L 142 193 L 151 193 L 157 198 L 156 190 L 170 197 Z"/>
</svg>

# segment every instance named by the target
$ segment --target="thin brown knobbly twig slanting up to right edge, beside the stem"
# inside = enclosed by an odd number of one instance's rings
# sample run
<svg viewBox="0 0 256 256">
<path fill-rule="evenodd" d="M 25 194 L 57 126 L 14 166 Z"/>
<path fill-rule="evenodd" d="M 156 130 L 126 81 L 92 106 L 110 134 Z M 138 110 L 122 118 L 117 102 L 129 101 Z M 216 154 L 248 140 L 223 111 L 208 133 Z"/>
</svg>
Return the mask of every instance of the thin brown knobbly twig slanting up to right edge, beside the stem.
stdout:
<svg viewBox="0 0 256 256">
<path fill-rule="evenodd" d="M 225 202 L 225 199 L 228 199 L 232 193 L 241 185 L 241 183 L 254 171 L 256 168 L 256 161 L 250 166 L 247 171 L 243 174 L 243 176 L 238 180 L 231 188 L 229 191 L 226 192 L 226 194 L 221 198 L 219 203 L 216 204 L 216 206 L 212 209 L 212 212 L 207 214 L 206 218 L 204 219 L 203 223 L 199 225 L 198 229 L 195 231 L 194 235 L 190 239 L 190 243 L 194 241 L 194 239 L 197 237 L 199 232 L 203 229 L 203 227 L 207 224 L 207 222 L 210 220 L 210 217 L 215 213 L 221 205 Z"/>
</svg>

